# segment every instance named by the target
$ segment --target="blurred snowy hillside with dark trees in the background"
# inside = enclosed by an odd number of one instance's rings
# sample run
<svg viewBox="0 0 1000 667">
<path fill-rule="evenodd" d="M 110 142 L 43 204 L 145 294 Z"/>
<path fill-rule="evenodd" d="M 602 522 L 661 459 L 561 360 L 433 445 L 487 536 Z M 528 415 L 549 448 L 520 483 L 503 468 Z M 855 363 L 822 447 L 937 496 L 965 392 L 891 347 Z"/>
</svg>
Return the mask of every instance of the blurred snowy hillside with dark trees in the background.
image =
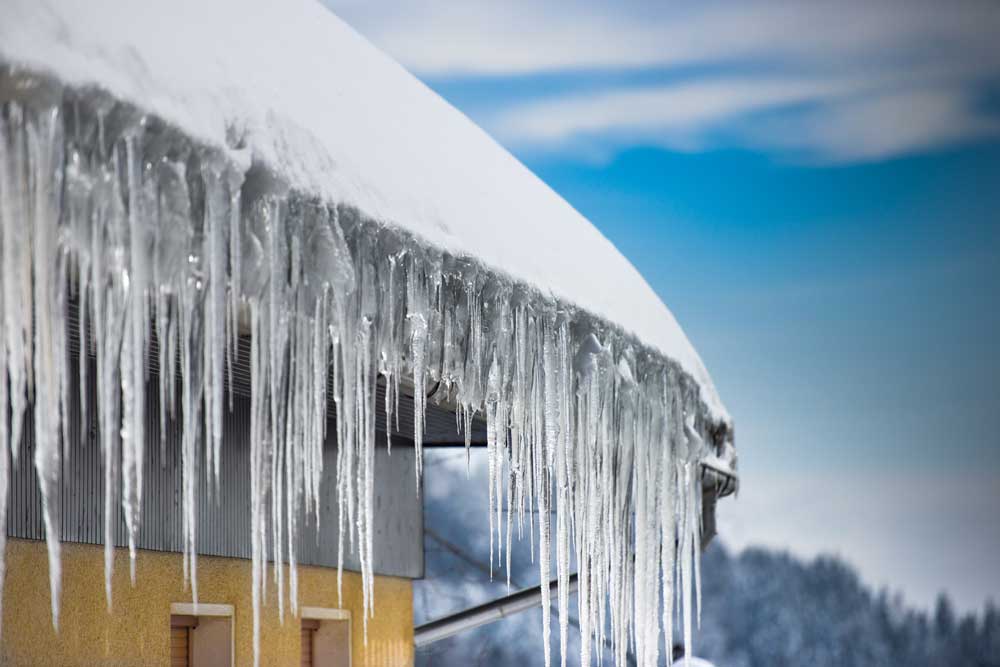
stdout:
<svg viewBox="0 0 1000 667">
<path fill-rule="evenodd" d="M 488 535 L 480 529 L 486 508 L 478 490 L 485 471 L 474 464 L 466 480 L 464 452 L 459 456 L 454 484 L 428 487 L 425 496 L 427 571 L 414 588 L 417 623 L 508 593 L 499 567 L 490 581 Z M 432 454 L 431 469 L 447 466 L 451 457 Z M 515 541 L 513 555 L 509 590 L 537 585 L 527 536 L 520 545 Z M 921 611 L 899 594 L 872 590 L 836 557 L 803 561 L 761 548 L 730 553 L 716 539 L 702 558 L 702 587 L 695 649 L 717 667 L 1000 667 L 995 604 L 963 615 L 941 596 L 934 610 Z M 575 596 L 570 605 L 575 607 Z M 553 613 L 554 658 L 557 623 Z M 570 637 L 568 664 L 575 665 L 579 631 L 571 628 Z M 542 664 L 540 638 L 541 611 L 525 612 L 428 646 L 418 651 L 418 664 Z M 604 664 L 612 664 L 608 651 Z"/>
</svg>

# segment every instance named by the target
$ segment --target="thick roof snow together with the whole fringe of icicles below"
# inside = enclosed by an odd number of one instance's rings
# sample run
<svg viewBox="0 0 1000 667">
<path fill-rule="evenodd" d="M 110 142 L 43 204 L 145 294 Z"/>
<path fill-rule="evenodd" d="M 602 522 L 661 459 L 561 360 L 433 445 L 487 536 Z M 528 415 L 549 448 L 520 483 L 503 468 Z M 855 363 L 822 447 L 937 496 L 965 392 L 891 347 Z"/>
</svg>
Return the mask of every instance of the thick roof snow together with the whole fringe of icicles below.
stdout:
<svg viewBox="0 0 1000 667">
<path fill-rule="evenodd" d="M 345 549 L 359 555 L 367 631 L 375 414 L 392 422 L 404 381 L 415 394 L 415 491 L 426 399 L 457 406 L 466 438 L 485 416 L 491 566 L 506 548 L 509 576 L 513 533 L 527 519 L 534 545 L 537 523 L 544 646 L 554 561 L 564 663 L 574 566 L 581 631 L 610 642 L 616 664 L 630 649 L 657 664 L 675 611 L 690 651 L 701 466 L 733 460 L 731 432 L 718 428 L 728 418 L 669 311 L 589 223 L 312 5 L 288 16 L 8 4 L 0 60 L 72 84 L 0 71 L 0 405 L 11 405 L 0 491 L 27 410 L 46 415 L 32 422 L 33 464 L 54 623 L 75 300 L 96 357 L 98 391 L 88 396 L 81 380 L 79 400 L 98 414 L 105 534 L 120 503 L 133 581 L 157 341 L 159 428 L 182 427 L 184 573 L 196 603 L 197 507 L 219 481 L 225 378 L 249 331 L 255 655 L 269 560 L 279 616 L 286 600 L 297 613 L 298 525 L 321 518 L 331 401 L 338 550 L 341 562 Z M 87 88 L 95 82 L 117 101 Z"/>
</svg>

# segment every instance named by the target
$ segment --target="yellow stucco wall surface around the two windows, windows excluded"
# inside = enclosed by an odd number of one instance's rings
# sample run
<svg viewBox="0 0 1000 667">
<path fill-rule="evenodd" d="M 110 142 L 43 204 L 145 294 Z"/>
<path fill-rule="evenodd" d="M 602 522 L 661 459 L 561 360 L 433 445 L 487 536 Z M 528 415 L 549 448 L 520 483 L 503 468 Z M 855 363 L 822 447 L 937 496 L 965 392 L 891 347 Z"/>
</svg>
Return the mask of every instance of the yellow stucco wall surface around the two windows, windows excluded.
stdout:
<svg viewBox="0 0 1000 667">
<path fill-rule="evenodd" d="M 45 543 L 14 539 L 8 542 L 0 664 L 169 664 L 170 603 L 191 601 L 190 593 L 184 590 L 181 555 L 139 552 L 137 585 L 132 588 L 128 551 L 118 549 L 113 582 L 114 608 L 109 614 L 104 599 L 103 547 L 66 543 L 62 550 L 62 613 L 56 633 L 49 612 Z M 286 605 L 285 623 L 279 622 L 270 568 L 268 581 L 268 601 L 261 620 L 261 665 L 297 665 L 298 620 L 291 618 Z M 362 640 L 361 576 L 344 572 L 343 592 L 343 605 L 338 605 L 335 568 L 299 568 L 302 606 L 341 606 L 351 612 L 353 667 L 412 665 L 410 581 L 395 577 L 375 578 L 375 618 L 368 623 L 367 647 Z M 250 561 L 200 557 L 198 598 L 200 602 L 235 607 L 235 664 L 252 665 Z"/>
</svg>

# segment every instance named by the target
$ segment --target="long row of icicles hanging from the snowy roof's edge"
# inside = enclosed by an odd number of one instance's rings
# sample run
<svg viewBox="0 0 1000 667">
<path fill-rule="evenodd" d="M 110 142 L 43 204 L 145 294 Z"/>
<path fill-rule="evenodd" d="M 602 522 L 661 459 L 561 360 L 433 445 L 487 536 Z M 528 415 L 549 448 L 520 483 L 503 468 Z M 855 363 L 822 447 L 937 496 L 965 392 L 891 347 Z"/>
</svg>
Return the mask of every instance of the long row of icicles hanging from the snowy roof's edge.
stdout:
<svg viewBox="0 0 1000 667">
<path fill-rule="evenodd" d="M 145 395 L 155 391 L 160 428 L 168 418 L 183 425 L 183 562 L 196 602 L 195 508 L 209 500 L 198 497 L 198 476 L 211 494 L 225 465 L 231 364 L 239 337 L 249 338 L 255 655 L 268 559 L 282 617 L 286 600 L 297 613 L 296 537 L 307 513 L 319 518 L 329 402 L 339 443 L 338 551 L 341 562 L 345 549 L 360 555 L 367 626 L 375 608 L 374 451 L 383 446 L 375 414 L 384 410 L 390 423 L 401 392 L 414 397 L 418 478 L 428 398 L 455 408 L 466 434 L 475 415 L 485 416 L 491 564 L 495 556 L 503 567 L 506 550 L 509 572 L 512 534 L 520 538 L 527 523 L 538 546 L 546 665 L 553 558 L 563 664 L 574 566 L 589 638 L 583 664 L 593 657 L 590 640 L 609 642 L 617 665 L 629 651 L 640 665 L 658 664 L 662 646 L 669 656 L 675 608 L 690 644 L 699 461 L 728 436 L 676 363 L 475 259 L 290 188 L 236 139 L 229 150 L 199 145 L 107 95 L 17 76 L 23 85 L 7 87 L 17 92 L 0 113 L 0 405 L 11 406 L 0 418 L 0 524 L 8 453 L 16 462 L 26 413 L 51 415 L 33 421 L 33 463 L 54 624 L 55 494 L 72 456 L 67 308 L 75 301 L 77 334 L 96 356 L 99 391 L 88 396 L 81 382 L 79 400 L 98 407 L 105 535 L 120 503 L 134 580 Z M 384 405 L 375 402 L 378 382 L 387 388 Z M 105 541 L 110 608 L 113 540 Z"/>
</svg>

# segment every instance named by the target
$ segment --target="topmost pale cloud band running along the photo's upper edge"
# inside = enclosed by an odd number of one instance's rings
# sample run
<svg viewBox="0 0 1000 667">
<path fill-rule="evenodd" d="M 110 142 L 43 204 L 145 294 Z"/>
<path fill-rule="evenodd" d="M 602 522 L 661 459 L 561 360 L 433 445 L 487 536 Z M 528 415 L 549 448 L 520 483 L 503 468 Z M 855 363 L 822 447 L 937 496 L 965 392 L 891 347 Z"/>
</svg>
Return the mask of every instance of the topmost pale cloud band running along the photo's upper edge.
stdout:
<svg viewBox="0 0 1000 667">
<path fill-rule="evenodd" d="M 1000 64 L 994 0 L 742 3 L 326 0 L 424 76 L 674 66 L 780 58 L 872 64 L 902 56 L 965 74 Z M 903 63 L 905 64 L 905 63 Z"/>
</svg>

